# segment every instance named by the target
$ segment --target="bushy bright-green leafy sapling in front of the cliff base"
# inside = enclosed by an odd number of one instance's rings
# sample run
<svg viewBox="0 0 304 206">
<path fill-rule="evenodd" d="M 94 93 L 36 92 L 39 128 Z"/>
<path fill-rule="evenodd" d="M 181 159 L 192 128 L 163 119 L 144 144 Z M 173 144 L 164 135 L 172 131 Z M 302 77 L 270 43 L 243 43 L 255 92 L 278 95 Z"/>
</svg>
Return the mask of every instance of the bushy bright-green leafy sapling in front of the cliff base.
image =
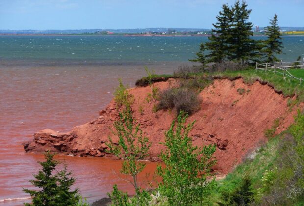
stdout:
<svg viewBox="0 0 304 206">
<path fill-rule="evenodd" d="M 160 154 L 165 167 L 158 166 L 157 172 L 163 182 L 159 192 L 168 198 L 170 205 L 203 204 L 204 196 L 215 186 L 215 180 L 207 182 L 211 166 L 216 163 L 212 155 L 215 145 L 198 148 L 188 136 L 194 122 L 184 125 L 187 115 L 180 112 L 177 126 L 173 122 L 165 133 L 167 149 Z M 174 131 L 175 128 L 175 131 Z"/>
</svg>

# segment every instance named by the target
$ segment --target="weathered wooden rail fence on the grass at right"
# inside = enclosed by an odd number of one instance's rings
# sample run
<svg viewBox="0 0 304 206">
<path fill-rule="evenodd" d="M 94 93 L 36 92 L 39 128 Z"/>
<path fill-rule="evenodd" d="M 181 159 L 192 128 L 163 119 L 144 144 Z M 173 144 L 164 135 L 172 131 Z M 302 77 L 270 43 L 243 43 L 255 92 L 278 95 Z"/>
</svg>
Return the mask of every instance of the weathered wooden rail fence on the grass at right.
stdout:
<svg viewBox="0 0 304 206">
<path fill-rule="evenodd" d="M 299 65 L 291 65 L 298 63 Z M 284 66 L 286 65 L 286 66 Z M 300 84 L 302 83 L 302 78 L 298 78 L 293 76 L 288 70 L 291 68 L 298 68 L 298 69 L 303 69 L 304 70 L 304 58 L 302 61 L 292 61 L 292 62 L 273 62 L 273 63 L 263 63 L 259 64 L 256 62 L 256 71 L 259 70 L 264 70 L 265 72 L 274 72 L 274 73 L 279 73 L 282 74 L 283 77 L 290 77 L 291 79 L 297 79 L 300 81 Z"/>
</svg>

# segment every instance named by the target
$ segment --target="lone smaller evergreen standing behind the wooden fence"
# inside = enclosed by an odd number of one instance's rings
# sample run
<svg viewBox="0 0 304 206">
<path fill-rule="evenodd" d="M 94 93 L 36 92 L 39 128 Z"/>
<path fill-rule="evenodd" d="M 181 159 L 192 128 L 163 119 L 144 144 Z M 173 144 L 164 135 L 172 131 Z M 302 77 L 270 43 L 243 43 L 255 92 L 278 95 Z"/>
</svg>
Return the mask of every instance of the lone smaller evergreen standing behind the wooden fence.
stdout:
<svg viewBox="0 0 304 206">
<path fill-rule="evenodd" d="M 275 54 L 281 54 L 283 52 L 283 42 L 279 31 L 277 14 L 275 14 L 274 18 L 270 20 L 270 26 L 265 28 L 265 34 L 268 36 L 265 41 L 265 48 L 263 49 L 263 53 L 266 55 L 266 61 L 279 61 Z"/>
</svg>

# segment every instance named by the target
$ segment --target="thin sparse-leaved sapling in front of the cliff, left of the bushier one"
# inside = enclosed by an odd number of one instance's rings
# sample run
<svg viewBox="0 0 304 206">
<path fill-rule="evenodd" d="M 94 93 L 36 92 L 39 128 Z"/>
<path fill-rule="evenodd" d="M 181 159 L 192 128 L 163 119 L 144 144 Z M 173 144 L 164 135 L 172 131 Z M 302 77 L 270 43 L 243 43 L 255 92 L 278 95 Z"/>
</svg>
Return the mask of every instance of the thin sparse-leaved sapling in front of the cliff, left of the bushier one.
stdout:
<svg viewBox="0 0 304 206">
<path fill-rule="evenodd" d="M 131 181 L 125 180 L 133 185 L 136 196 L 132 202 L 145 202 L 148 203 L 151 198 L 147 195 L 147 192 L 140 188 L 138 183 L 138 174 L 143 171 L 146 163 L 140 161 L 148 156 L 148 151 L 151 143 L 148 138 L 143 136 L 142 130 L 139 128 L 139 124 L 133 119 L 132 111 L 130 107 L 127 107 L 123 112 L 119 114 L 120 119 L 114 123 L 116 133 L 118 136 L 118 145 L 114 144 L 112 138 L 109 137 L 108 152 L 115 154 L 123 159 L 121 173 L 132 177 Z M 116 187 L 116 188 L 115 188 Z M 113 202 L 124 201 L 126 199 L 126 193 L 121 193 L 117 190 L 117 186 L 114 185 L 114 191 L 112 194 L 108 194 Z M 121 197 L 118 200 L 117 197 Z M 137 205 L 137 204 L 136 204 Z"/>
</svg>

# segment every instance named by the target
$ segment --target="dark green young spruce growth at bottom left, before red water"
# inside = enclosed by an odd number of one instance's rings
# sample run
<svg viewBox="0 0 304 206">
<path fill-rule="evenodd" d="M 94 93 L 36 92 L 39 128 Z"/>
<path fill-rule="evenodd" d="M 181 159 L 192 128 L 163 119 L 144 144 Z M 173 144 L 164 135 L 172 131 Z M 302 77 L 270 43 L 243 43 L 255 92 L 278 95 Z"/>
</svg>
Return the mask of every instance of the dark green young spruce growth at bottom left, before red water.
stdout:
<svg viewBox="0 0 304 206">
<path fill-rule="evenodd" d="M 57 174 L 52 174 L 56 166 L 60 163 L 54 160 L 55 154 L 51 152 L 44 153 L 46 161 L 39 162 L 42 170 L 33 175 L 36 180 L 29 180 L 32 185 L 38 187 L 39 191 L 23 189 L 25 193 L 32 197 L 32 204 L 25 203 L 26 206 L 75 206 L 81 200 L 79 190 L 70 191 L 75 178 L 70 177 L 72 172 L 67 171 L 64 165 L 63 170 Z M 83 205 L 87 205 L 86 203 Z"/>
</svg>

